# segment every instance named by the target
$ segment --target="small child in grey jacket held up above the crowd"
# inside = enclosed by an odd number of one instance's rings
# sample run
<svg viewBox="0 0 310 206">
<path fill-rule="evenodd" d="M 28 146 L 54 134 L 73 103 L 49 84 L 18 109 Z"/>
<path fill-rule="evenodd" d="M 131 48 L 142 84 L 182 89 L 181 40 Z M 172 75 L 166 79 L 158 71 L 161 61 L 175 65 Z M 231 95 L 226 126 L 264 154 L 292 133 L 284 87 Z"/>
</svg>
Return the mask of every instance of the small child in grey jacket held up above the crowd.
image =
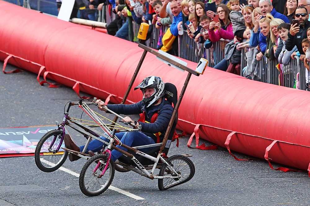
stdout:
<svg viewBox="0 0 310 206">
<path fill-rule="evenodd" d="M 239 0 L 230 0 L 229 18 L 232 22 L 232 33 L 241 39 L 246 38 L 244 31 L 246 30 L 245 20 L 240 11 Z"/>
</svg>

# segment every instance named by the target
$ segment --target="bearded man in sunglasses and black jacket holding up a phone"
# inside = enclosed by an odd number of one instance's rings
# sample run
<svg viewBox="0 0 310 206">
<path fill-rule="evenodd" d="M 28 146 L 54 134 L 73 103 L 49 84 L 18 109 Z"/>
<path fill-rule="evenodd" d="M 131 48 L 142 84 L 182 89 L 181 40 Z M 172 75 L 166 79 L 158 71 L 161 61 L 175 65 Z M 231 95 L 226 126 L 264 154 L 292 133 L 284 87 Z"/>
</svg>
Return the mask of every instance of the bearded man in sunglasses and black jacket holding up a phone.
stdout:
<svg viewBox="0 0 310 206">
<path fill-rule="evenodd" d="M 295 23 L 291 25 L 288 39 L 285 42 L 285 47 L 288 51 L 291 51 L 295 45 L 297 46 L 297 49 L 301 54 L 301 59 L 304 58 L 301 41 L 307 38 L 307 29 L 310 27 L 308 18 L 309 15 L 307 9 L 304 6 L 298 6 L 295 11 L 295 19 L 298 20 L 298 24 Z"/>
</svg>

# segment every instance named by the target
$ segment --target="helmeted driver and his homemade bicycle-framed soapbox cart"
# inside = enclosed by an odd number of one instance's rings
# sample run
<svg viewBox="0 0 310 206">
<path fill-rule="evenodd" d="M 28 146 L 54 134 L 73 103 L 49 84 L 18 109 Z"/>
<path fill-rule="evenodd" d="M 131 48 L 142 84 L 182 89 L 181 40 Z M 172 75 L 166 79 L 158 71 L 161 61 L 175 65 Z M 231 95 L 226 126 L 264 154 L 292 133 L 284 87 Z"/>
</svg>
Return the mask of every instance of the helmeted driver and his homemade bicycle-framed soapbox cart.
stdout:
<svg viewBox="0 0 310 206">
<path fill-rule="evenodd" d="M 153 50 L 152 53 L 154 53 Z M 157 56 L 161 55 L 157 53 Z M 169 59 L 167 60 L 169 61 Z M 140 63 L 142 62 L 140 61 L 139 65 Z M 172 61 L 172 63 L 175 62 Z M 137 70 L 141 66 L 139 65 Z M 186 69 L 191 70 L 188 67 Z M 191 73 L 195 74 L 192 71 Z M 87 102 L 83 99 L 77 102 L 68 102 L 69 105 L 64 113 L 63 121 L 58 124 L 58 128 L 47 132 L 39 140 L 35 150 L 36 165 L 43 172 L 53 172 L 63 165 L 69 152 L 70 161 L 79 158 L 86 159 L 87 161 L 80 172 L 79 186 L 83 194 L 87 196 L 100 195 L 106 191 L 113 181 L 115 170 L 119 172 L 131 170 L 149 179 L 158 179 L 158 188 L 160 190 L 166 190 L 189 181 L 195 174 L 193 162 L 185 155 L 173 155 L 171 157 L 166 155 L 171 141 L 175 139 L 175 126 L 178 120 L 177 110 L 191 73 L 189 73 L 185 81 L 179 99 L 177 98 L 175 85 L 170 83 L 164 84 L 160 77 L 150 76 L 145 78 L 135 88 L 140 88 L 144 94 L 143 100 L 135 104 L 104 105 L 103 101 L 96 98 L 92 102 Z M 131 80 L 122 103 L 126 99 L 134 79 L 135 76 Z M 69 110 L 73 105 L 78 105 L 92 121 L 69 117 Z M 95 105 L 100 110 L 112 113 L 116 117 L 113 121 L 109 120 L 92 110 L 89 107 L 90 105 Z M 138 122 L 133 121 L 129 117 L 123 118 L 114 112 L 116 110 L 122 111 L 120 112 L 121 114 L 128 114 L 125 111 L 126 108 L 132 109 L 134 106 L 140 107 L 139 113 L 142 113 L 142 117 Z M 157 106 L 159 106 L 158 110 L 156 110 Z M 121 109 L 115 109 L 116 107 Z M 155 110 L 152 117 L 148 117 L 148 109 Z M 164 110 L 165 112 L 163 113 L 165 114 L 162 115 L 161 110 Z M 169 111 L 170 114 L 168 114 Z M 144 114 L 145 112 L 146 114 Z M 166 115 L 167 119 L 167 114 L 169 118 L 168 121 L 165 121 L 163 116 Z M 121 118 L 123 123 L 133 128 L 118 124 L 117 118 Z M 112 124 L 106 124 L 102 119 L 109 120 Z M 149 121 L 146 121 L 147 119 Z M 164 123 L 161 121 L 164 121 Z M 154 130 L 150 129 L 151 125 L 155 124 L 158 126 L 161 123 L 163 125 L 160 129 L 157 128 L 155 134 Z M 66 134 L 65 126 L 69 126 L 81 133 L 87 139 L 85 146 L 77 147 L 70 136 Z M 65 143 L 65 148 L 63 143 Z M 98 152 L 98 154 L 94 152 Z M 154 174 L 156 169 L 159 169 L 158 174 Z"/>
</svg>

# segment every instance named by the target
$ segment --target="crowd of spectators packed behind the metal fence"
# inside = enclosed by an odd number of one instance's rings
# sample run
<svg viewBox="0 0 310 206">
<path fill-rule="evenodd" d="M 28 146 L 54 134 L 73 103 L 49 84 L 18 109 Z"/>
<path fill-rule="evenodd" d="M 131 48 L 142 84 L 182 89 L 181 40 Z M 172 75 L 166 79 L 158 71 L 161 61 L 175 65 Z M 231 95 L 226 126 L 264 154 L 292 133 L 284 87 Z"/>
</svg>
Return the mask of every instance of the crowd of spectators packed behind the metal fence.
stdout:
<svg viewBox="0 0 310 206">
<path fill-rule="evenodd" d="M 160 30 L 157 49 L 178 55 L 179 35 L 188 35 L 206 49 L 220 39 L 228 40 L 225 58 L 215 69 L 257 79 L 257 66 L 263 58 L 288 65 L 295 56 L 303 61 L 309 87 L 310 0 L 76 0 L 86 8 L 82 18 L 95 19 L 103 5 L 113 7 L 116 18 L 107 26 L 108 34 L 130 38 L 130 24 L 146 22 L 149 31 Z M 104 2 L 102 2 L 104 1 Z M 163 27 L 165 26 L 165 27 Z M 169 32 L 167 31 L 169 28 Z M 170 41 L 169 41 L 170 40 Z M 166 43 L 169 42 L 169 43 Z M 167 45 L 169 44 L 169 45 Z M 214 48 L 213 52 L 216 52 Z M 241 67 L 241 49 L 246 51 L 247 66 Z M 280 82 L 281 84 L 281 82 Z"/>
</svg>

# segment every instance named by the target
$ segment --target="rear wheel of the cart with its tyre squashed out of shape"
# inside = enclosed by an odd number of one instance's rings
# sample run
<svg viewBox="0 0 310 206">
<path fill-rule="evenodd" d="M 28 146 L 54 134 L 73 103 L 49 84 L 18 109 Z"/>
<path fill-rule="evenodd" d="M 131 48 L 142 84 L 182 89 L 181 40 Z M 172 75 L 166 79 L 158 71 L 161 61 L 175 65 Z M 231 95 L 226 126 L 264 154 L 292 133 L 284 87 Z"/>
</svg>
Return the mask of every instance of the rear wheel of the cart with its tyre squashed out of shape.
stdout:
<svg viewBox="0 0 310 206">
<path fill-rule="evenodd" d="M 166 190 L 170 187 L 175 187 L 193 178 L 195 174 L 195 166 L 188 157 L 183 155 L 173 155 L 166 161 L 170 166 L 163 164 L 159 171 L 159 176 L 176 177 L 178 174 L 180 174 L 181 177 L 158 179 L 159 190 Z M 175 174 L 171 168 L 173 168 L 178 174 Z"/>
</svg>

